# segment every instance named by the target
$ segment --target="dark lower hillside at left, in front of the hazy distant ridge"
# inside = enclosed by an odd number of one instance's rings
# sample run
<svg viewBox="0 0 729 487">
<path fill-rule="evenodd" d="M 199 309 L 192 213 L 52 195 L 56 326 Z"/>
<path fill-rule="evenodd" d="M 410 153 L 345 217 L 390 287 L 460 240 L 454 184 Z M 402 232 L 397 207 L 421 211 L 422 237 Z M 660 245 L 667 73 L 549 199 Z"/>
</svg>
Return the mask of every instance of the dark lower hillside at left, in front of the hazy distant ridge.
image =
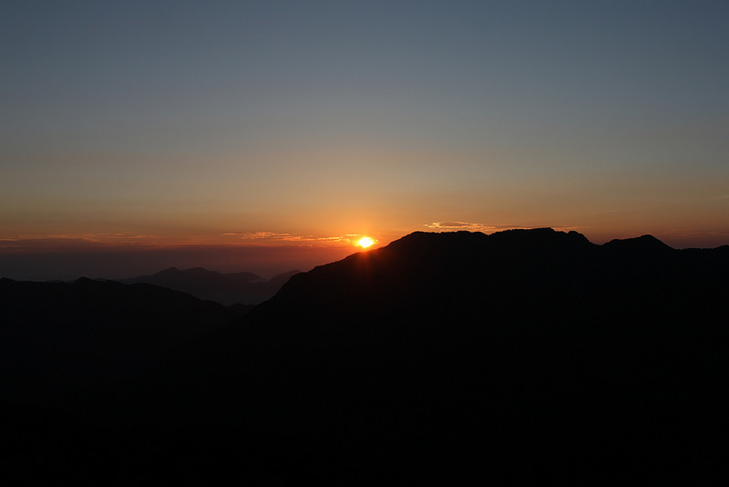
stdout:
<svg viewBox="0 0 729 487">
<path fill-rule="evenodd" d="M 58 405 L 149 369 L 242 312 L 154 285 L 0 279 L 0 396 Z"/>
</svg>

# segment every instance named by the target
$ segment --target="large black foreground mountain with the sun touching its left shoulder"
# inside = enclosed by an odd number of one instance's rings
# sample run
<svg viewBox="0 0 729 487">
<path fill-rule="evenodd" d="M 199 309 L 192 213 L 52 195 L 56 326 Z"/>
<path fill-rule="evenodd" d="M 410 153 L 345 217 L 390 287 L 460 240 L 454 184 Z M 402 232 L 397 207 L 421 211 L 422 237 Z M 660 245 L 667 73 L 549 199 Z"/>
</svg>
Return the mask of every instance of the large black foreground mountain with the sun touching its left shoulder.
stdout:
<svg viewBox="0 0 729 487">
<path fill-rule="evenodd" d="M 34 409 L 5 394 L 9 437 L 18 464 L 55 459 L 56 478 L 81 462 L 118 481 L 155 465 L 162 478 L 695 482 L 726 464 L 726 275 L 727 246 L 412 233 L 293 275 L 229 325 L 156 349 L 154 368 Z M 33 326 L 5 299 L 23 284 L 0 285 L 5 328 Z"/>
</svg>

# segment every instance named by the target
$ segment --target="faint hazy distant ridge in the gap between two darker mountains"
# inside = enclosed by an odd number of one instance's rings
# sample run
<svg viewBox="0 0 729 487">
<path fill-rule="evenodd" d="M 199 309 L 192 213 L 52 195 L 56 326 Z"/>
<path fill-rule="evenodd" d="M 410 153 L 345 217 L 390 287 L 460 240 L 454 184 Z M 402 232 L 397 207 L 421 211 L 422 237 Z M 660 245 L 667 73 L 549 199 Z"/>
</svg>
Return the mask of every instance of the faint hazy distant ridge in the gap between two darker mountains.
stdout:
<svg viewBox="0 0 729 487">
<path fill-rule="evenodd" d="M 222 274 L 202 267 L 186 270 L 169 267 L 154 275 L 140 275 L 118 281 L 125 284 L 145 283 L 169 287 L 225 306 L 257 305 L 275 295 L 292 275 L 299 272 L 301 271 L 288 271 L 271 279 L 263 279 L 250 272 Z"/>
</svg>

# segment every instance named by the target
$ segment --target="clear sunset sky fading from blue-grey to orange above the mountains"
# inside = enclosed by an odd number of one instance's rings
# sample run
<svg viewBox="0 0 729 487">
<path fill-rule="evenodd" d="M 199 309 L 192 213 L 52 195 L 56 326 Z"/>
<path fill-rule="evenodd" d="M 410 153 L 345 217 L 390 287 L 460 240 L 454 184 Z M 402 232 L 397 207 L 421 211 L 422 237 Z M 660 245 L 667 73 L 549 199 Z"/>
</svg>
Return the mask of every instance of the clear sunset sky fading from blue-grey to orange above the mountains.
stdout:
<svg viewBox="0 0 729 487">
<path fill-rule="evenodd" d="M 726 2 L 0 13 L 0 276 L 272 274 L 414 231 L 729 244 Z"/>
</svg>

